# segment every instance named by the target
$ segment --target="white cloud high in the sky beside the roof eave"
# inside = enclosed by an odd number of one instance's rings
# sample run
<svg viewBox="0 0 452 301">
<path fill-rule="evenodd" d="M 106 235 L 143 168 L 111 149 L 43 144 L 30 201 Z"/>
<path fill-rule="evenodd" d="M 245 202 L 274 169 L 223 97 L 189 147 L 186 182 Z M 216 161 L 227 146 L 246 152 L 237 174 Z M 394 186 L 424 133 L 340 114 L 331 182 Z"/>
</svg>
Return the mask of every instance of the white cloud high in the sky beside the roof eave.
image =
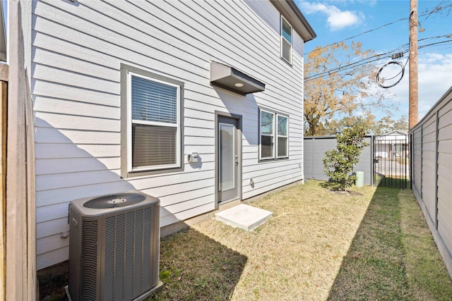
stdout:
<svg viewBox="0 0 452 301">
<path fill-rule="evenodd" d="M 345 27 L 361 24 L 364 20 L 362 13 L 356 11 L 341 11 L 336 6 L 321 4 L 319 2 L 300 1 L 303 13 L 324 13 L 327 18 L 328 27 L 331 31 L 342 30 Z"/>
</svg>

